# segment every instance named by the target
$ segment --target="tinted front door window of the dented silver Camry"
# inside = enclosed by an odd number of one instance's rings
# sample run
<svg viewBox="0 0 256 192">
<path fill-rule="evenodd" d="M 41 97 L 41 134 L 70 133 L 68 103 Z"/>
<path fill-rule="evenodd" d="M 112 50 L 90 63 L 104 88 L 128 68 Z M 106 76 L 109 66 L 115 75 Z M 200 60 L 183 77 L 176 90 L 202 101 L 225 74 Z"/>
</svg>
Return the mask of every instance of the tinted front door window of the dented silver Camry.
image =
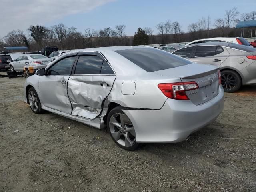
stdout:
<svg viewBox="0 0 256 192">
<path fill-rule="evenodd" d="M 48 75 L 69 75 L 71 73 L 71 67 L 76 59 L 76 56 L 67 57 L 60 61 L 58 61 L 56 64 L 51 66 L 47 70 Z"/>
</svg>

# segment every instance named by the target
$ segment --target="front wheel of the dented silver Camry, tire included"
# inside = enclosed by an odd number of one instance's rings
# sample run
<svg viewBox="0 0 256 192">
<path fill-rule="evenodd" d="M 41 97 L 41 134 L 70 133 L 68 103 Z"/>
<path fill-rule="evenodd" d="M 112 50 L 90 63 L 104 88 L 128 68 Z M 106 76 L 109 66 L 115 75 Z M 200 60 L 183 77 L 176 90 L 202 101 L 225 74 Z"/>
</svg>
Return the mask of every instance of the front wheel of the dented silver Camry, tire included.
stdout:
<svg viewBox="0 0 256 192">
<path fill-rule="evenodd" d="M 28 90 L 28 102 L 29 102 L 31 110 L 34 113 L 40 114 L 40 113 L 43 112 L 42 106 L 41 106 L 41 102 L 40 102 L 40 100 L 38 98 L 36 90 L 33 87 L 31 87 Z"/>
</svg>

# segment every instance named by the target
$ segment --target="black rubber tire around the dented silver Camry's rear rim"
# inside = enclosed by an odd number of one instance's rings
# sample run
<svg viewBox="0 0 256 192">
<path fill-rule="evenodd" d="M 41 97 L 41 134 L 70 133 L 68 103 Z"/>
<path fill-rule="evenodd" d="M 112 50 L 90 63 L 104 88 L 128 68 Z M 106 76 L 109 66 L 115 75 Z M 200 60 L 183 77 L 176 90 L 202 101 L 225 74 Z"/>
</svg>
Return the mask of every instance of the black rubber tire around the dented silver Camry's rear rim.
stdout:
<svg viewBox="0 0 256 192">
<path fill-rule="evenodd" d="M 129 151 L 136 150 L 136 149 L 138 148 L 138 146 L 139 146 L 139 143 L 136 142 L 136 136 L 135 136 L 134 142 L 133 142 L 133 144 L 132 144 L 131 146 L 124 146 L 124 145 L 118 143 L 118 142 L 116 141 L 116 139 L 112 136 L 112 133 L 111 133 L 111 130 L 110 130 L 110 118 L 111 118 L 112 116 L 114 116 L 115 114 L 123 114 L 123 115 L 125 116 L 126 121 L 129 121 L 129 122 L 130 122 L 129 125 L 131 124 L 130 119 L 129 119 L 128 116 L 126 116 L 126 114 L 122 111 L 122 107 L 121 107 L 121 106 L 118 106 L 118 107 L 116 107 L 116 108 L 113 108 L 113 109 L 108 113 L 108 118 L 107 118 L 107 127 L 108 127 L 108 132 L 109 132 L 111 138 L 113 139 L 113 141 L 114 141 L 120 148 L 123 148 L 123 149 L 125 149 L 125 150 L 129 150 Z M 127 119 L 127 118 L 128 118 L 128 119 Z M 128 124 L 127 124 L 127 125 L 128 125 Z M 115 126 L 115 128 L 117 128 L 117 127 Z M 119 129 L 119 128 L 118 128 L 118 129 Z M 125 130 L 125 128 L 123 128 L 123 130 Z M 134 133 L 135 133 L 135 130 L 134 130 Z M 120 134 L 121 134 L 121 131 L 120 131 Z M 128 135 L 128 134 L 130 134 L 130 132 L 126 132 L 125 134 Z M 122 134 L 121 134 L 121 135 L 122 135 Z M 132 136 L 132 135 L 130 135 L 130 136 Z M 121 137 L 120 137 L 120 139 L 121 139 Z"/>
</svg>

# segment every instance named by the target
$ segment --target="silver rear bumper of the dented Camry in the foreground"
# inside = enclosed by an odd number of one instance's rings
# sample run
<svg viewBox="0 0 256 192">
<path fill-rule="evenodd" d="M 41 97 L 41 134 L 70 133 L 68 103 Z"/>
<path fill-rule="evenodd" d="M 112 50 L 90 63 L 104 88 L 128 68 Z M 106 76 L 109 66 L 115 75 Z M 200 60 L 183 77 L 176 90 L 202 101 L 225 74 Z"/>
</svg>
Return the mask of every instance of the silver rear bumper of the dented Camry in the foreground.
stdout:
<svg viewBox="0 0 256 192">
<path fill-rule="evenodd" d="M 175 143 L 214 121 L 224 108 L 224 90 L 212 100 L 194 105 L 191 101 L 167 99 L 160 110 L 123 110 L 133 123 L 136 142 Z"/>
</svg>

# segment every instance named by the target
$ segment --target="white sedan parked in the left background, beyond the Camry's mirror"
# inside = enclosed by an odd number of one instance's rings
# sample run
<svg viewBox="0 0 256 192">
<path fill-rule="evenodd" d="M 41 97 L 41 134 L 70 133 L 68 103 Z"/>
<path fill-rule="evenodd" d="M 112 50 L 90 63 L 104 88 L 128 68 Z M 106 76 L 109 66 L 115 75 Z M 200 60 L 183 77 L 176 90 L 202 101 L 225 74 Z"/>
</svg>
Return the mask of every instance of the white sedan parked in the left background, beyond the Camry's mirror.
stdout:
<svg viewBox="0 0 256 192">
<path fill-rule="evenodd" d="M 16 60 L 10 63 L 10 71 L 23 71 L 24 66 L 33 66 L 34 70 L 45 68 L 47 64 L 51 62 L 51 58 L 48 58 L 40 54 L 22 54 Z"/>
</svg>

